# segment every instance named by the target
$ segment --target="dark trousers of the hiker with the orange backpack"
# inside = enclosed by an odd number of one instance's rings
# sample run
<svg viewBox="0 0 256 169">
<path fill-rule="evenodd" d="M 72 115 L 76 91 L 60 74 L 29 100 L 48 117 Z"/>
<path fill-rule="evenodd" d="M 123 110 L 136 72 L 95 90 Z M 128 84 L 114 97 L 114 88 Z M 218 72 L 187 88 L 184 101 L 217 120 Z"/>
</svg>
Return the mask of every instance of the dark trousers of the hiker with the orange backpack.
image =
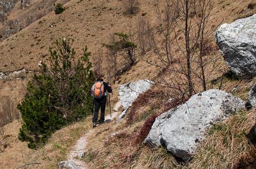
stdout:
<svg viewBox="0 0 256 169">
<path fill-rule="evenodd" d="M 106 108 L 106 98 L 102 98 L 101 100 L 95 99 L 94 101 L 94 113 L 92 122 L 96 123 L 98 120 L 99 110 L 100 110 L 100 123 L 105 121 L 105 108 Z"/>
</svg>

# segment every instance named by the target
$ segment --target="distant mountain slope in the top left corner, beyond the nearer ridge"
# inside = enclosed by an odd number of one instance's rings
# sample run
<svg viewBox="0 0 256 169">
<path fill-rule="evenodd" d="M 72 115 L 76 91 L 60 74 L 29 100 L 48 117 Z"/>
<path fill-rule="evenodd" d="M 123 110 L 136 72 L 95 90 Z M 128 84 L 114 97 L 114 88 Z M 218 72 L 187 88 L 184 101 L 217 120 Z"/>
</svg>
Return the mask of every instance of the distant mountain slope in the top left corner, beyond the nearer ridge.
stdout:
<svg viewBox="0 0 256 169">
<path fill-rule="evenodd" d="M 21 31 L 68 0 L 0 1 L 0 42 Z"/>
</svg>

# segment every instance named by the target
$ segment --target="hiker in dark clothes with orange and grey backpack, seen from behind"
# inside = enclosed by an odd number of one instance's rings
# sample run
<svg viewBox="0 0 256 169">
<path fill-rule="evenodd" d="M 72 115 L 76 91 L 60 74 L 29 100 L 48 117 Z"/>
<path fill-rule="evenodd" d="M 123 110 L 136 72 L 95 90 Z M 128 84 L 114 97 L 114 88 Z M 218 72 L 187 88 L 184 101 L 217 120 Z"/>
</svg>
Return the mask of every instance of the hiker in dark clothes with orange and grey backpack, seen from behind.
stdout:
<svg viewBox="0 0 256 169">
<path fill-rule="evenodd" d="M 112 88 L 109 86 L 109 83 L 104 82 L 102 77 L 97 78 L 96 82 L 92 85 L 90 90 L 90 95 L 92 95 L 94 98 L 94 113 L 92 118 L 93 128 L 96 127 L 100 109 L 100 124 L 104 123 L 105 121 L 107 92 L 112 92 Z"/>
</svg>

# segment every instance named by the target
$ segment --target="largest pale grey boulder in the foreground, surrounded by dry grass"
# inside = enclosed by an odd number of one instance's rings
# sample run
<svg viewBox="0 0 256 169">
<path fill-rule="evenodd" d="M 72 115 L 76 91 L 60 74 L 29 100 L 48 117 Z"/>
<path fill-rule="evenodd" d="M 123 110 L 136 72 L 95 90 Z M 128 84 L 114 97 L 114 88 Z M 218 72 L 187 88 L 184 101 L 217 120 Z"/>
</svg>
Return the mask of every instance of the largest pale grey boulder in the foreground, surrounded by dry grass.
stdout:
<svg viewBox="0 0 256 169">
<path fill-rule="evenodd" d="M 174 156 L 189 160 L 206 130 L 244 107 L 244 101 L 220 90 L 192 96 L 186 103 L 156 118 L 145 142 L 165 146 Z"/>
</svg>

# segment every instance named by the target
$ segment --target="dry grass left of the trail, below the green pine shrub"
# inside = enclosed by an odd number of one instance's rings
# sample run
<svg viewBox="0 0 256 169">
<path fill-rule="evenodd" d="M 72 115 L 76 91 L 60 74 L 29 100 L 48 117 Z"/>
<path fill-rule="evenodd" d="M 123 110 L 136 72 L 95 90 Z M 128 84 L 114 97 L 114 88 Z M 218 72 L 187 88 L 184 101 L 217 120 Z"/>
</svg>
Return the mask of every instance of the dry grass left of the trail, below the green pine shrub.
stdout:
<svg viewBox="0 0 256 169">
<path fill-rule="evenodd" d="M 18 124 L 15 126 L 16 128 L 21 127 L 20 123 Z M 91 117 L 53 133 L 46 145 L 37 151 L 29 150 L 26 142 L 21 142 L 16 138 L 18 135 L 16 128 L 7 126 L 6 135 L 10 135 L 9 139 L 12 140 L 8 141 L 6 136 L 0 136 L 0 145 L 2 141 L 3 143 L 9 142 L 4 153 L 0 153 L 0 168 L 16 168 L 32 162 L 41 164 L 31 165 L 27 168 L 56 168 L 58 162 L 66 160 L 68 152 L 77 139 L 91 128 Z M 9 132 L 11 129 L 14 131 Z"/>
</svg>

